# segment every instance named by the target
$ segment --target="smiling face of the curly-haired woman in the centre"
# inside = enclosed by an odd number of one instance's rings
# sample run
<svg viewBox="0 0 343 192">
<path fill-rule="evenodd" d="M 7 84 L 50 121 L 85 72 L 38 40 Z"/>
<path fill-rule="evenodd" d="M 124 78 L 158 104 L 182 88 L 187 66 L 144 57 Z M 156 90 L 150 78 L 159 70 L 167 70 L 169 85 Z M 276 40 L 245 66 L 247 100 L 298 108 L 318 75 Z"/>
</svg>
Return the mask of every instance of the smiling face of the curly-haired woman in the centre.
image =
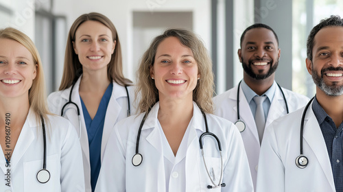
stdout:
<svg viewBox="0 0 343 192">
<path fill-rule="evenodd" d="M 155 80 L 159 99 L 193 99 L 198 81 L 198 63 L 189 47 L 176 37 L 168 37 L 158 45 L 150 75 Z"/>
</svg>

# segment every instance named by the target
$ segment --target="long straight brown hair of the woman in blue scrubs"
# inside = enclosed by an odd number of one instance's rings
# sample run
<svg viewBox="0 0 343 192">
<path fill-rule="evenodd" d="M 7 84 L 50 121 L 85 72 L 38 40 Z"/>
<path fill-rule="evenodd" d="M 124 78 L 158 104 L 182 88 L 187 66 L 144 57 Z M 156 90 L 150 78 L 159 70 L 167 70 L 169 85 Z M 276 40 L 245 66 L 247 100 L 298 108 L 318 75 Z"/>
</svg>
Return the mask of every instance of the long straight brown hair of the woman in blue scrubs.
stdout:
<svg viewBox="0 0 343 192">
<path fill-rule="evenodd" d="M 115 51 L 113 52 L 107 67 L 108 80 L 111 82 L 114 80 L 117 84 L 122 86 L 131 85 L 132 82 L 126 79 L 123 75 L 121 46 L 115 25 L 113 25 L 110 19 L 103 14 L 91 12 L 88 14 L 82 14 L 74 21 L 73 25 L 71 25 L 67 39 L 67 47 L 65 49 L 63 75 L 59 90 L 62 91 L 69 88 L 69 86 L 71 86 L 71 84 L 73 84 L 73 82 L 75 82 L 82 74 L 82 64 L 73 49 L 73 41 L 75 41 L 75 32 L 85 21 L 97 21 L 102 23 L 112 32 L 113 42 L 116 41 Z"/>
</svg>

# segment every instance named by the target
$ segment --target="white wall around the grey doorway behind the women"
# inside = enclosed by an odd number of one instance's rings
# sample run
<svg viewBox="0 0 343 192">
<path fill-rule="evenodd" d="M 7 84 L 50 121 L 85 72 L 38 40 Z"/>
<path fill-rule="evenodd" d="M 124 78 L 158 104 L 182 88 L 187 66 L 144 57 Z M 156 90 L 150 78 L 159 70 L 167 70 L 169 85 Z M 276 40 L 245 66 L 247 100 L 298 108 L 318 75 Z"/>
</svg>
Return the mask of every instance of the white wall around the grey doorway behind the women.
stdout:
<svg viewBox="0 0 343 192">
<path fill-rule="evenodd" d="M 1 0 L 4 1 L 4 0 Z M 121 40 L 123 51 L 123 72 L 134 80 L 136 62 L 133 58 L 132 41 L 133 12 L 193 12 L 193 31 L 204 40 L 207 49 L 211 50 L 211 1 L 210 0 L 56 0 L 53 12 L 67 16 L 67 28 L 78 16 L 88 12 L 102 13 L 113 21 Z"/>
</svg>

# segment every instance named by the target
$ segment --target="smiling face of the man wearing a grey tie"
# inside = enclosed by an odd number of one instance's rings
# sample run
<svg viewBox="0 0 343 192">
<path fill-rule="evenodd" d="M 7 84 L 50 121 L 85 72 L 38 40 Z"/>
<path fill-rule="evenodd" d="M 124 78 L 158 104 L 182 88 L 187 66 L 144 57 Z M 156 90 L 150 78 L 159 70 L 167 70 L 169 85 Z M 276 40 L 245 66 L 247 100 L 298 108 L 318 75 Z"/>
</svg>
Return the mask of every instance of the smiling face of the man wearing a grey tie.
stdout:
<svg viewBox="0 0 343 192">
<path fill-rule="evenodd" d="M 264 80 L 276 71 L 280 49 L 273 32 L 258 27 L 246 32 L 238 56 L 244 75 L 247 74 L 255 80 Z"/>
</svg>

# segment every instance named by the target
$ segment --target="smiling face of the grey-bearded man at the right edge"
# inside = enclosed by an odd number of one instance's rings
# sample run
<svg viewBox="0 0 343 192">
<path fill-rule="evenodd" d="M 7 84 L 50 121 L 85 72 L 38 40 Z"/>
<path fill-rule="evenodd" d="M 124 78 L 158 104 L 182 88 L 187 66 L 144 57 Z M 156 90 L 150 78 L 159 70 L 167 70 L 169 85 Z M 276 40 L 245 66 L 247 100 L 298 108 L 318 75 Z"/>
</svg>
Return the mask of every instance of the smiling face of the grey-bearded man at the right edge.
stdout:
<svg viewBox="0 0 343 192">
<path fill-rule="evenodd" d="M 307 71 L 317 86 L 317 93 L 343 94 L 343 27 L 324 27 L 314 37 L 312 61 L 306 59 Z"/>
</svg>

